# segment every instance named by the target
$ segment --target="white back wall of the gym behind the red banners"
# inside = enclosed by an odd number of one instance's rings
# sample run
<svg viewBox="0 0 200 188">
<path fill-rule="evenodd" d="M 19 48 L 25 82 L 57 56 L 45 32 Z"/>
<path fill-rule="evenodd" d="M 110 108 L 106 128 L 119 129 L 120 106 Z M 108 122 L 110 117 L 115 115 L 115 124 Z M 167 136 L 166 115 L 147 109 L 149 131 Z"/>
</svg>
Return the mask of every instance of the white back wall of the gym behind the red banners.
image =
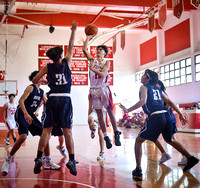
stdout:
<svg viewBox="0 0 200 188">
<path fill-rule="evenodd" d="M 68 45 L 70 28 L 57 27 L 53 34 L 50 34 L 48 27 L 29 26 L 26 29 L 24 38 L 21 38 L 23 26 L 8 25 L 8 80 L 18 81 L 18 96 L 23 94 L 26 86 L 31 84 L 28 80 L 29 74 L 38 70 L 38 44 Z M 101 30 L 100 30 L 101 32 Z M 5 69 L 5 26 L 0 31 L 0 70 Z M 112 35 L 101 38 L 94 46 L 105 42 Z M 82 45 L 81 38 L 85 39 L 84 28 L 78 28 L 76 32 L 75 45 Z M 114 86 L 111 86 L 114 102 L 135 100 L 138 93 L 134 93 L 134 72 L 137 70 L 138 48 L 135 42 L 137 35 L 132 32 L 126 33 L 126 46 L 120 47 L 120 35 L 117 36 L 117 51 L 114 54 Z M 106 43 L 112 46 L 112 40 Z M 41 86 L 48 91 L 47 86 Z M 88 117 L 88 92 L 89 86 L 72 86 L 71 98 L 74 109 L 74 125 L 87 124 Z M 0 97 L 0 106 L 7 102 L 5 97 Z M 41 112 L 41 111 L 40 111 Z"/>
</svg>

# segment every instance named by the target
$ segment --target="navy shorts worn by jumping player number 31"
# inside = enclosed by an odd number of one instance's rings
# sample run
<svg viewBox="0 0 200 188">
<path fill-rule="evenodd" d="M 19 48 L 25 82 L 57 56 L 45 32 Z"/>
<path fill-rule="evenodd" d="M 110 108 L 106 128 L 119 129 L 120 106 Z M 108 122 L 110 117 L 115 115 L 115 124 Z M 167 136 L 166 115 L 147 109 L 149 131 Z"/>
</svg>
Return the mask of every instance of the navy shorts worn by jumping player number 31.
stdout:
<svg viewBox="0 0 200 188">
<path fill-rule="evenodd" d="M 50 96 L 46 104 L 44 128 L 72 128 L 73 109 L 70 97 Z"/>
</svg>

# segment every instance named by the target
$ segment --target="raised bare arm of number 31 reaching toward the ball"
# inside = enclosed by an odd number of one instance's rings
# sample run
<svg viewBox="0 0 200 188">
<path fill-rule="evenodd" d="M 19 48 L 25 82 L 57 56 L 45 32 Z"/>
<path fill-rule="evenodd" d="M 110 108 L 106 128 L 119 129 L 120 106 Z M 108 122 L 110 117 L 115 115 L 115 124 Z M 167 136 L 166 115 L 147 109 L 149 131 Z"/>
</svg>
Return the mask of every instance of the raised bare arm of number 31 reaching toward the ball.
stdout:
<svg viewBox="0 0 200 188">
<path fill-rule="evenodd" d="M 69 66 L 70 66 L 71 60 L 72 60 L 76 28 L 77 28 L 77 23 L 76 23 L 76 21 L 73 21 L 72 27 L 71 27 L 72 32 L 71 32 L 71 36 L 70 36 L 70 39 L 69 39 L 69 46 L 67 48 L 67 54 L 65 56 L 65 59 L 67 60 Z"/>
</svg>

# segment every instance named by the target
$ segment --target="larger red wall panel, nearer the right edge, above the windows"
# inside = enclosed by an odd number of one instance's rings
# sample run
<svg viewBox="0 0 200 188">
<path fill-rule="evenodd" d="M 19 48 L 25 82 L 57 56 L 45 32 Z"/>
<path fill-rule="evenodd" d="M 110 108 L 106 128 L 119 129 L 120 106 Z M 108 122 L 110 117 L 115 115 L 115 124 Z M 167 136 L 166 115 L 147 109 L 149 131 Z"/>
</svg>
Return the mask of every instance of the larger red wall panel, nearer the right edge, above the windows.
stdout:
<svg viewBox="0 0 200 188">
<path fill-rule="evenodd" d="M 190 47 L 189 19 L 165 31 L 166 56 L 189 47 Z"/>
</svg>

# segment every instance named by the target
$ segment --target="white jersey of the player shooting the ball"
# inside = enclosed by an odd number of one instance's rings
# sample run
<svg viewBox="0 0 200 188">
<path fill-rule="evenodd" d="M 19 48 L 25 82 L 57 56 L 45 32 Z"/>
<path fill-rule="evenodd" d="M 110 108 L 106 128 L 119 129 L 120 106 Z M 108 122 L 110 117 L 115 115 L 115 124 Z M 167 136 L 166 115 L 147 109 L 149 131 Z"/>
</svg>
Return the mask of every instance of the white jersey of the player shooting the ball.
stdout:
<svg viewBox="0 0 200 188">
<path fill-rule="evenodd" d="M 95 59 L 94 60 L 94 68 L 97 69 L 98 71 L 102 71 L 105 63 L 106 63 L 105 59 L 101 62 L 99 62 L 97 59 Z M 103 78 L 100 77 L 98 74 L 94 73 L 92 70 L 89 71 L 89 75 L 90 75 L 90 87 L 102 87 L 102 86 L 108 85 L 107 84 L 108 75 L 109 75 L 108 72 L 107 72 L 107 75 Z"/>
</svg>

